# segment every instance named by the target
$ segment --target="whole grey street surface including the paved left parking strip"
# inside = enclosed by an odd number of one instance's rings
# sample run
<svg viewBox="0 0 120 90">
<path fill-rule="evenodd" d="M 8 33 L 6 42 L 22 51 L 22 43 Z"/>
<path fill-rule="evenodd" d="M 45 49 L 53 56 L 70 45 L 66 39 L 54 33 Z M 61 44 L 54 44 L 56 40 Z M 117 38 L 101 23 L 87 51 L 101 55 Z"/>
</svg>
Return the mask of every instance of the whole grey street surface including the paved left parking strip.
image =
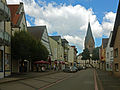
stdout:
<svg viewBox="0 0 120 90">
<path fill-rule="evenodd" d="M 0 90 L 94 90 L 94 70 L 55 73 L 0 84 Z"/>
</svg>

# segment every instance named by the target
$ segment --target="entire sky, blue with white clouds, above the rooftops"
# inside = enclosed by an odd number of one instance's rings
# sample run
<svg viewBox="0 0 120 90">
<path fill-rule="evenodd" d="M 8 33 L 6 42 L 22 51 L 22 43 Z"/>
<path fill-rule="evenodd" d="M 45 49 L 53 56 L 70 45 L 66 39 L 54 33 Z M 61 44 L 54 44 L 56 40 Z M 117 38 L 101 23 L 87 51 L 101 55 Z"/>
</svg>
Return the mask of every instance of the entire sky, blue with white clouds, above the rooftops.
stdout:
<svg viewBox="0 0 120 90">
<path fill-rule="evenodd" d="M 49 35 L 61 35 L 80 53 L 89 21 L 96 47 L 109 37 L 119 0 L 7 0 L 19 2 L 24 3 L 28 26 L 46 25 Z"/>
</svg>

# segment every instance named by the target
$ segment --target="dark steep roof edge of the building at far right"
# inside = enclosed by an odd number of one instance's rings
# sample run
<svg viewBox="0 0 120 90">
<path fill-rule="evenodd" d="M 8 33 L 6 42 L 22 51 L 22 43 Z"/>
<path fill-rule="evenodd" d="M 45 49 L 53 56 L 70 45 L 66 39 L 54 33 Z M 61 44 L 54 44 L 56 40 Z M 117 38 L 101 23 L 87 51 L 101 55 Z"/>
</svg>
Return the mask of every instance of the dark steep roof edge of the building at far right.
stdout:
<svg viewBox="0 0 120 90">
<path fill-rule="evenodd" d="M 114 46 L 115 38 L 116 38 L 116 35 L 117 35 L 119 25 L 120 25 L 120 1 L 119 1 L 119 5 L 118 5 L 118 10 L 117 10 L 117 14 L 116 14 L 115 23 L 114 23 L 113 35 L 112 35 L 112 39 L 111 39 L 111 43 L 110 43 L 111 47 Z"/>
</svg>

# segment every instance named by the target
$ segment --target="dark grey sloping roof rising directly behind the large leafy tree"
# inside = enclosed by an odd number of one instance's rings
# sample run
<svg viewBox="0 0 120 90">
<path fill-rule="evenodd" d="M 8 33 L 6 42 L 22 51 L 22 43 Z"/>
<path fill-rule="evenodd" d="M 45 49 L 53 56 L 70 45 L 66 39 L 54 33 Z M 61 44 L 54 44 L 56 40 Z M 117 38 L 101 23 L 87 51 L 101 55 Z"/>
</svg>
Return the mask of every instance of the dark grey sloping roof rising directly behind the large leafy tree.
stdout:
<svg viewBox="0 0 120 90">
<path fill-rule="evenodd" d="M 36 39 L 42 39 L 42 35 L 44 30 L 46 29 L 46 26 L 32 26 L 32 27 L 27 27 L 28 32 L 35 37 Z"/>
</svg>

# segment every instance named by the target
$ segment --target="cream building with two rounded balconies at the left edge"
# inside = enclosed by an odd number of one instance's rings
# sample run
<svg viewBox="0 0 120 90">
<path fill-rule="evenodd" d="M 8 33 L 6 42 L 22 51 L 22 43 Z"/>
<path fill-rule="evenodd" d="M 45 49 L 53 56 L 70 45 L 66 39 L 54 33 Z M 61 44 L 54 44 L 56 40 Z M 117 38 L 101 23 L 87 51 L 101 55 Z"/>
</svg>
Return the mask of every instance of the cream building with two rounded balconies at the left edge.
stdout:
<svg viewBox="0 0 120 90">
<path fill-rule="evenodd" d="M 0 78 L 11 75 L 11 14 L 6 0 L 0 0 Z"/>
</svg>

